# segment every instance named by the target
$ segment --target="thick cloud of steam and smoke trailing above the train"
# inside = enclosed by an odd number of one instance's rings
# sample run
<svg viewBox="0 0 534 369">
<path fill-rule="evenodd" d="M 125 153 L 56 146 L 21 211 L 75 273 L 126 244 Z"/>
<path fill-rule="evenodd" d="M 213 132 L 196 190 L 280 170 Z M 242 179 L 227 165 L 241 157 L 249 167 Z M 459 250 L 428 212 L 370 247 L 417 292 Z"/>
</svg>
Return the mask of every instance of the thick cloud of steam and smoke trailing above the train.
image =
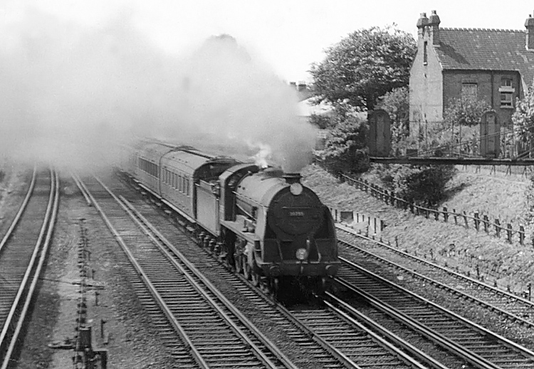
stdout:
<svg viewBox="0 0 534 369">
<path fill-rule="evenodd" d="M 120 16 L 102 28 L 26 9 L 0 27 L 0 153 L 83 170 L 117 143 L 156 137 L 227 155 L 308 163 L 315 130 L 295 93 L 230 36 L 161 51 Z"/>
</svg>

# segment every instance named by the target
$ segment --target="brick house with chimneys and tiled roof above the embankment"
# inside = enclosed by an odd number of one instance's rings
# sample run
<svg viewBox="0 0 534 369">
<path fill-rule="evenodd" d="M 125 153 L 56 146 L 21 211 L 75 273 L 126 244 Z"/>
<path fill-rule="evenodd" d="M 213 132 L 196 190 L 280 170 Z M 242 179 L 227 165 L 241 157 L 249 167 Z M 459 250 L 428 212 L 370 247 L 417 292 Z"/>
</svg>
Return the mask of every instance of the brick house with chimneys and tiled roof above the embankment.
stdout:
<svg viewBox="0 0 534 369">
<path fill-rule="evenodd" d="M 451 98 L 486 100 L 501 126 L 511 125 L 515 99 L 534 78 L 534 18 L 525 31 L 440 28 L 436 11 L 417 21 L 417 55 L 409 80 L 410 132 L 419 137 L 443 120 Z"/>
</svg>

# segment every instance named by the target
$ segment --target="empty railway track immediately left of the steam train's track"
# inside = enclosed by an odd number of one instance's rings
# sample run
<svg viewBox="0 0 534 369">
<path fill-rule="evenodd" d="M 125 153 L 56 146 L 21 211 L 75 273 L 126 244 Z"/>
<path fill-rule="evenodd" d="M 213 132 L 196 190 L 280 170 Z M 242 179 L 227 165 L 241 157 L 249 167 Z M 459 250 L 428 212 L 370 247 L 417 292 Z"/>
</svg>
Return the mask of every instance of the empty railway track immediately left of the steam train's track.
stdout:
<svg viewBox="0 0 534 369">
<path fill-rule="evenodd" d="M 141 277 L 135 290 L 179 368 L 296 368 L 124 198 L 99 181 L 85 189 Z"/>
</svg>

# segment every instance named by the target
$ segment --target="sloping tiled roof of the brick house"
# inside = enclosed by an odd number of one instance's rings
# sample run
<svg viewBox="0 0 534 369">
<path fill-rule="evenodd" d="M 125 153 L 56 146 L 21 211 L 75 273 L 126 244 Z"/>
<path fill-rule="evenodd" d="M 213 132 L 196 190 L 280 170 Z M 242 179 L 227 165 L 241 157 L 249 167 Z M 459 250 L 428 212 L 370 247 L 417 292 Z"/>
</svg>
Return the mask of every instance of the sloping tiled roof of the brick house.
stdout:
<svg viewBox="0 0 534 369">
<path fill-rule="evenodd" d="M 444 70 L 518 71 L 530 85 L 534 51 L 525 40 L 525 31 L 511 29 L 440 28 L 436 52 Z"/>
</svg>

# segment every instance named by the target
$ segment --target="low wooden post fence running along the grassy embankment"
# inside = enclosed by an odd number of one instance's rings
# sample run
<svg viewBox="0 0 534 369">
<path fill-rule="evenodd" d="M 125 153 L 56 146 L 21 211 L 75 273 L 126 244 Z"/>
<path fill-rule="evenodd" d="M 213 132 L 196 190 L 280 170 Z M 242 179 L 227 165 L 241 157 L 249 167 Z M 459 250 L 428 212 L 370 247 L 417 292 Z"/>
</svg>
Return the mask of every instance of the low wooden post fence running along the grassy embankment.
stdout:
<svg viewBox="0 0 534 369">
<path fill-rule="evenodd" d="M 426 219 L 435 219 L 442 220 L 444 222 L 454 222 L 454 224 L 459 224 L 467 229 L 472 227 L 477 231 L 483 230 L 487 234 L 491 234 L 495 237 L 506 237 L 506 241 L 512 243 L 515 239 L 518 239 L 520 244 L 525 244 L 525 228 L 519 226 L 518 230 L 514 230 L 512 224 L 507 223 L 501 224 L 499 219 L 494 219 L 493 222 L 488 219 L 487 215 L 482 217 L 478 212 L 474 212 L 473 215 L 468 215 L 466 212 L 456 212 L 456 209 L 452 209 L 452 212 L 449 212 L 449 209 L 443 207 L 442 210 L 439 209 L 430 209 L 426 207 L 421 207 L 409 202 L 405 199 L 401 199 L 395 196 L 395 193 L 388 191 L 387 189 L 382 189 L 377 185 L 373 185 L 367 180 L 357 180 L 356 178 L 349 177 L 347 175 L 337 175 L 337 177 L 342 182 L 347 182 L 349 185 L 361 189 L 364 192 L 371 194 L 373 197 L 382 200 L 386 204 L 392 205 L 394 207 L 399 207 L 404 210 L 412 212 L 412 214 L 422 215 Z M 514 235 L 517 235 L 514 237 Z M 534 239 L 533 239 L 534 246 Z"/>
</svg>

